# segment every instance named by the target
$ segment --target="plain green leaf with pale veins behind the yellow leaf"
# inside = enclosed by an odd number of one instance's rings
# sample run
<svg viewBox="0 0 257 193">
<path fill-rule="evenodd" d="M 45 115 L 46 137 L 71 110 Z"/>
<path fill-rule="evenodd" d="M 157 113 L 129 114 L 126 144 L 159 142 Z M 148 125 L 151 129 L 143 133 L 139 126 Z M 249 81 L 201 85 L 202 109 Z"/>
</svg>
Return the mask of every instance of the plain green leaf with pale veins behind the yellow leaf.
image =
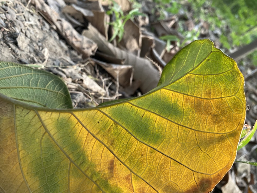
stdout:
<svg viewBox="0 0 257 193">
<path fill-rule="evenodd" d="M 72 109 L 65 83 L 56 75 L 24 65 L 0 62 L 0 93 L 38 107 Z"/>
</svg>

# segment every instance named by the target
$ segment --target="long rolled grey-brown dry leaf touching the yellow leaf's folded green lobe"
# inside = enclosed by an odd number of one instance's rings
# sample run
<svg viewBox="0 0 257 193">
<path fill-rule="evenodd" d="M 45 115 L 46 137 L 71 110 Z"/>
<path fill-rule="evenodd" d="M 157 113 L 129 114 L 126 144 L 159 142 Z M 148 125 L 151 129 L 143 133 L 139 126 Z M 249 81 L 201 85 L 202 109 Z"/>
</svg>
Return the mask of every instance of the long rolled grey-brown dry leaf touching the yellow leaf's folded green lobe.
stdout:
<svg viewBox="0 0 257 193">
<path fill-rule="evenodd" d="M 84 30 L 82 34 L 89 39 L 95 41 L 98 45 L 98 49 L 105 54 L 115 56 L 119 59 L 125 59 L 125 65 L 131 65 L 134 67 L 134 80 L 140 80 L 140 89 L 142 93 L 146 93 L 154 89 L 159 81 L 159 73 L 156 68 L 153 67 L 151 62 L 147 59 L 140 58 L 117 47 L 114 47 L 111 43 L 94 28 L 92 25 L 88 25 L 88 29 Z"/>
</svg>

